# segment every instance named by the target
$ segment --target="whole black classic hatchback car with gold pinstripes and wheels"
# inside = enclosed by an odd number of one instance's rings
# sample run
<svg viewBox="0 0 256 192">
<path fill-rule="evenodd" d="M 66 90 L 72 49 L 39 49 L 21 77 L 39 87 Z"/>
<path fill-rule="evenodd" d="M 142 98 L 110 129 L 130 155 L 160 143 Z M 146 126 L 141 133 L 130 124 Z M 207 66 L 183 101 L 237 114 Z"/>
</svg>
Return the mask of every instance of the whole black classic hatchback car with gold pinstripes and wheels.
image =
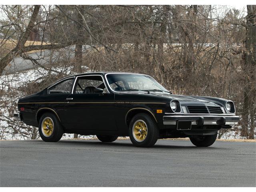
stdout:
<svg viewBox="0 0 256 192">
<path fill-rule="evenodd" d="M 196 146 L 210 146 L 221 128 L 240 120 L 230 100 L 174 95 L 144 74 L 97 72 L 59 80 L 44 90 L 20 98 L 19 113 L 37 126 L 46 142 L 63 133 L 96 135 L 102 142 L 130 136 L 138 147 L 158 138 L 189 137 Z"/>
</svg>

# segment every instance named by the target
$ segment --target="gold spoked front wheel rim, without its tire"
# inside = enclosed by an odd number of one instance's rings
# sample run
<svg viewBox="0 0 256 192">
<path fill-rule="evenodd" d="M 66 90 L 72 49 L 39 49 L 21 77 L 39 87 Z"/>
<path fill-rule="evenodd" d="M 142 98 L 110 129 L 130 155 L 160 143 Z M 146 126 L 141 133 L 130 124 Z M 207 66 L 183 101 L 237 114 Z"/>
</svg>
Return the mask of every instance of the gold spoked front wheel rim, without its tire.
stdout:
<svg viewBox="0 0 256 192">
<path fill-rule="evenodd" d="M 132 134 L 136 141 L 142 142 L 148 135 L 148 127 L 143 120 L 137 120 L 132 126 Z"/>
</svg>

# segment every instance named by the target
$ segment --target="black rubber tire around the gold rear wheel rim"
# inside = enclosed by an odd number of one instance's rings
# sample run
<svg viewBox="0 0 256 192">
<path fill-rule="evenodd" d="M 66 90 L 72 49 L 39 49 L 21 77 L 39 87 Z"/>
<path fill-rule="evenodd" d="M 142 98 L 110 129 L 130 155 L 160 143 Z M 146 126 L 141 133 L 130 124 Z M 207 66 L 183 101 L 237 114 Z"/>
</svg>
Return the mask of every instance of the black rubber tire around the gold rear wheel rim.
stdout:
<svg viewBox="0 0 256 192">
<path fill-rule="evenodd" d="M 44 126 L 44 124 L 42 123 L 43 121 L 45 122 L 47 118 L 52 120 L 53 122 L 53 130 L 50 136 L 46 136 L 46 133 L 44 132 L 45 129 L 42 128 Z M 45 142 L 57 142 L 62 138 L 62 135 L 63 135 L 63 128 L 62 128 L 62 125 L 60 124 L 60 121 L 56 118 L 54 114 L 50 112 L 46 112 L 40 117 L 38 129 L 39 129 L 40 137 Z"/>
</svg>

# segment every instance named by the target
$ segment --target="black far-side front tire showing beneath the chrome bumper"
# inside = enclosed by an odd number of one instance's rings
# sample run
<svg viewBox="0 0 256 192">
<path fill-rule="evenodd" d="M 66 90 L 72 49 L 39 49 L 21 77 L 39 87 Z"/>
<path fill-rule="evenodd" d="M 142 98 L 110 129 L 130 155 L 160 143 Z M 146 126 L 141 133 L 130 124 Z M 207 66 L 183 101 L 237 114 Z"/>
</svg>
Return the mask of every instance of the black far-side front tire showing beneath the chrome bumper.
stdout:
<svg viewBox="0 0 256 192">
<path fill-rule="evenodd" d="M 205 135 L 205 136 L 193 136 L 190 137 L 190 141 L 197 147 L 208 147 L 214 144 L 217 138 L 217 132 L 214 135 Z"/>
</svg>

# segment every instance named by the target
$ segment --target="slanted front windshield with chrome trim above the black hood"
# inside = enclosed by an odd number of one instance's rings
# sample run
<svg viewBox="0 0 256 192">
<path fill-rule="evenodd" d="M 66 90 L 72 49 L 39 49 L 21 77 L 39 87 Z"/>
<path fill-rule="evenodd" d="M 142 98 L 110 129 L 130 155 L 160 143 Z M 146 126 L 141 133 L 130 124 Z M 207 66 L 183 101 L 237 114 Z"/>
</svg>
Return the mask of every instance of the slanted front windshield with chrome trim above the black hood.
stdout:
<svg viewBox="0 0 256 192">
<path fill-rule="evenodd" d="M 150 76 L 140 74 L 107 74 L 110 88 L 116 92 L 127 91 L 160 91 L 168 92 L 162 85 Z"/>
</svg>

